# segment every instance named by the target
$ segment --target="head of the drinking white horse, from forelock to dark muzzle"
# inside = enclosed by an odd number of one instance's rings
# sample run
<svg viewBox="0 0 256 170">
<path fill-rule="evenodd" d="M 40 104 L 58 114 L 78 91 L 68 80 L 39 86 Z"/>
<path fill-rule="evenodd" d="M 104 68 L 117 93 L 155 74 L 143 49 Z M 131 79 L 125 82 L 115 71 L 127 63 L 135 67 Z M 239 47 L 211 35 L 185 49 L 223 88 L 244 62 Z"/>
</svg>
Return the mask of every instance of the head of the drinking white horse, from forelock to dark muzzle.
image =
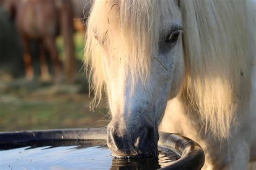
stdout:
<svg viewBox="0 0 256 170">
<path fill-rule="evenodd" d="M 87 52 L 95 84 L 105 86 L 109 100 L 107 145 L 117 157 L 147 157 L 157 155 L 167 100 L 177 96 L 184 79 L 181 13 L 176 1 L 130 3 L 95 3 Z M 107 17 L 96 24 L 102 5 Z"/>
</svg>

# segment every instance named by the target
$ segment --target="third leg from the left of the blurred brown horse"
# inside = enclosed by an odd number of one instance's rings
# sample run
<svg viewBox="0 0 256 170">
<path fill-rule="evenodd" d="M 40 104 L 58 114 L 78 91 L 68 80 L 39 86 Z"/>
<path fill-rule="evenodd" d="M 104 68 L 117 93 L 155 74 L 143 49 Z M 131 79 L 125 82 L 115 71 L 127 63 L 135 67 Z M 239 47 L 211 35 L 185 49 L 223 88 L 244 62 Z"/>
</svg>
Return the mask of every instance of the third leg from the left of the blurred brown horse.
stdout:
<svg viewBox="0 0 256 170">
<path fill-rule="evenodd" d="M 55 82 L 58 83 L 60 80 L 62 80 L 62 69 L 61 69 L 61 63 L 58 58 L 58 51 L 57 46 L 55 44 L 55 38 L 54 37 L 46 37 L 44 39 L 45 47 L 50 52 L 53 67 L 55 71 Z"/>
</svg>

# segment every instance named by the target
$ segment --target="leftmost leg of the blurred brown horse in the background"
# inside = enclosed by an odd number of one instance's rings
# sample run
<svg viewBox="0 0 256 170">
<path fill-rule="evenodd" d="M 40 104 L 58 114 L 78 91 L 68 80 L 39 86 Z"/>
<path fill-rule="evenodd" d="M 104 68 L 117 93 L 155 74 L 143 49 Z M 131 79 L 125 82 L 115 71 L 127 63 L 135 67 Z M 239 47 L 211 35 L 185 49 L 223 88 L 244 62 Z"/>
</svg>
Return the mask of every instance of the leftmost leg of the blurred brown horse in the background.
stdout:
<svg viewBox="0 0 256 170">
<path fill-rule="evenodd" d="M 23 60 L 25 64 L 25 76 L 27 80 L 32 80 L 34 78 L 34 71 L 32 65 L 32 57 L 30 55 L 30 48 L 29 48 L 29 40 L 25 37 L 22 37 L 22 44 L 23 44 Z"/>
</svg>

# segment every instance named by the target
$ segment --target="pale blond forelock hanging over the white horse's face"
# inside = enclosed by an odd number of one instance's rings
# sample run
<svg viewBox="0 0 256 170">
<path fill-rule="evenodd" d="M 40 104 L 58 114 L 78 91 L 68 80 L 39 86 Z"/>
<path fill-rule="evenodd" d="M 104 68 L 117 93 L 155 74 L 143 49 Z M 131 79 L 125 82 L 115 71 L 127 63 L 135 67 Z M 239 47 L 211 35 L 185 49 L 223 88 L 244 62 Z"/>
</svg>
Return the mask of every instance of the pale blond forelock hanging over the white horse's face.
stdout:
<svg viewBox="0 0 256 170">
<path fill-rule="evenodd" d="M 111 52 L 112 65 L 121 63 L 126 67 L 133 84 L 140 79 L 146 85 L 151 59 L 158 48 L 159 30 L 163 29 L 160 18 L 163 20 L 172 12 L 172 4 L 172 1 L 95 1 L 87 24 L 85 64 L 91 68 L 89 77 L 96 98 L 101 98 L 104 86 L 102 59 L 106 56 L 102 50 Z"/>
</svg>

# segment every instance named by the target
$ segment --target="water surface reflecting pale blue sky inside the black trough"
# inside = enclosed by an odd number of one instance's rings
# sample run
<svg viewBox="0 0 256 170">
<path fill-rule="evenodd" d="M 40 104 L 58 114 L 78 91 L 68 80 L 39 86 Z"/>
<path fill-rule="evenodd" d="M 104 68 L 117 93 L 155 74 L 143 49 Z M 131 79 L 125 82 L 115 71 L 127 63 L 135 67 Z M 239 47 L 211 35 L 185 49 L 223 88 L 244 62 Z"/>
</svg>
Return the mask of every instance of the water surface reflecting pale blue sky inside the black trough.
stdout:
<svg viewBox="0 0 256 170">
<path fill-rule="evenodd" d="M 0 145 L 0 169 L 158 169 L 180 157 L 159 147 L 158 157 L 116 159 L 106 141 L 54 141 Z"/>
</svg>

